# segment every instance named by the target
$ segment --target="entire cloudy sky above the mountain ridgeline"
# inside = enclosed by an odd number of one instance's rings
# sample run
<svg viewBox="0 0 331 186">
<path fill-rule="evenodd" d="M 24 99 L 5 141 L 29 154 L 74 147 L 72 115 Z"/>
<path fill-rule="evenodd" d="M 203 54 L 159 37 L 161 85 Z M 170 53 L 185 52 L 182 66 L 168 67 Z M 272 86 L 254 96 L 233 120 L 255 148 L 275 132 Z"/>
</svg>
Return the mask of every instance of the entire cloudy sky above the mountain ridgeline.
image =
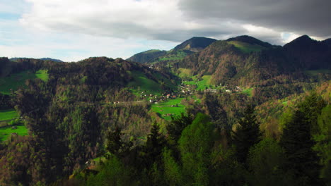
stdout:
<svg viewBox="0 0 331 186">
<path fill-rule="evenodd" d="M 0 0 L 0 56 L 127 58 L 194 36 L 331 37 L 327 0 Z"/>
</svg>

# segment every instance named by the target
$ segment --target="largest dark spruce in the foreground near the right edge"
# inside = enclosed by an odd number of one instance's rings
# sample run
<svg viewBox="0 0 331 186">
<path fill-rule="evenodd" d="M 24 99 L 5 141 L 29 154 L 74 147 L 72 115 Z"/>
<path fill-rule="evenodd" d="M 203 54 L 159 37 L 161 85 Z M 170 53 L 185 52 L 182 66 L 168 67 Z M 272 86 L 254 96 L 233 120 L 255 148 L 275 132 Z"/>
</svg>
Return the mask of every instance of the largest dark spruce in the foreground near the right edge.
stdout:
<svg viewBox="0 0 331 186">
<path fill-rule="evenodd" d="M 319 159 L 312 149 L 315 145 L 312 129 L 316 127 L 320 105 L 316 94 L 307 97 L 298 105 L 281 136 L 280 144 L 286 155 L 284 169 L 298 178 L 298 185 L 321 185 Z"/>
</svg>

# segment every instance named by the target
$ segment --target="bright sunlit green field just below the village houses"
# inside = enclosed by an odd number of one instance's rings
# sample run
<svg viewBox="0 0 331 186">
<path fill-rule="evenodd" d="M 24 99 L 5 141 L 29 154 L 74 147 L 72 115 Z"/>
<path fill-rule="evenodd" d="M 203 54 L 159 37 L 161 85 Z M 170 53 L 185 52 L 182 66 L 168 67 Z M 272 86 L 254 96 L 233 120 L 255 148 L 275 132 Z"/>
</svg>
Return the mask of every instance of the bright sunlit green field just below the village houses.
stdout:
<svg viewBox="0 0 331 186">
<path fill-rule="evenodd" d="M 173 116 L 179 116 L 180 113 L 185 112 L 185 106 L 180 104 L 180 101 L 182 101 L 182 99 L 184 98 L 168 99 L 168 101 L 159 104 L 153 104 L 151 106 L 151 111 L 158 113 L 158 115 L 165 120 L 170 120 L 170 116 L 164 115 L 170 113 Z M 178 105 L 178 107 L 172 107 L 176 105 Z"/>
</svg>

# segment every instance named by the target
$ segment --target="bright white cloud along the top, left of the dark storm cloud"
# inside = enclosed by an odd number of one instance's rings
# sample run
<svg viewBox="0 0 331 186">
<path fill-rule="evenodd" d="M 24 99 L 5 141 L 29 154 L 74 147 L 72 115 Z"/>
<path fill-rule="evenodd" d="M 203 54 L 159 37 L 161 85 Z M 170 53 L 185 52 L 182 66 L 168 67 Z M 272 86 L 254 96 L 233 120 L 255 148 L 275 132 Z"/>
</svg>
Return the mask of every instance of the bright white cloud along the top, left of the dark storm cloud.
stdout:
<svg viewBox="0 0 331 186">
<path fill-rule="evenodd" d="M 21 24 L 38 30 L 175 42 L 243 32 L 238 23 L 187 18 L 178 8 L 179 0 L 28 1 L 32 8 Z"/>
</svg>

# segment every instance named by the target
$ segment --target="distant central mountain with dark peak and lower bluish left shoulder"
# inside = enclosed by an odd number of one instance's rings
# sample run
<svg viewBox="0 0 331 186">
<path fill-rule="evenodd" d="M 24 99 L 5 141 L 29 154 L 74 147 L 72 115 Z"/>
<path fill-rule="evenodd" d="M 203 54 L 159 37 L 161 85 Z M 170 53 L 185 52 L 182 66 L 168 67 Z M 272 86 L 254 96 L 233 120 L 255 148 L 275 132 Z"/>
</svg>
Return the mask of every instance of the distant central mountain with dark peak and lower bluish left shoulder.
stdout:
<svg viewBox="0 0 331 186">
<path fill-rule="evenodd" d="M 187 39 L 185 42 L 178 44 L 174 49 L 170 51 L 159 51 L 150 50 L 144 51 L 139 54 L 128 58 L 128 61 L 136 61 L 139 63 L 169 63 L 173 61 L 182 60 L 185 56 L 194 54 L 195 52 L 202 51 L 209 44 L 216 42 L 216 39 L 211 39 L 207 37 L 192 37 Z"/>
</svg>

